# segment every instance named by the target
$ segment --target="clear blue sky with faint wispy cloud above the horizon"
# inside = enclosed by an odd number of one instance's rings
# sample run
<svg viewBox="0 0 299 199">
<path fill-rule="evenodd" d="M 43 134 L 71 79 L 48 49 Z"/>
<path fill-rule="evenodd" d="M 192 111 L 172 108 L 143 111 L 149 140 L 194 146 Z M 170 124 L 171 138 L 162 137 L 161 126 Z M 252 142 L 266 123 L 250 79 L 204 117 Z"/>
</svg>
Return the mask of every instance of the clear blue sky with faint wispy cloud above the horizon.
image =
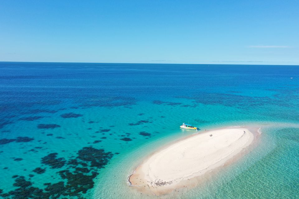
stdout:
<svg viewBox="0 0 299 199">
<path fill-rule="evenodd" d="M 0 61 L 299 65 L 298 10 L 298 0 L 0 0 Z"/>
</svg>

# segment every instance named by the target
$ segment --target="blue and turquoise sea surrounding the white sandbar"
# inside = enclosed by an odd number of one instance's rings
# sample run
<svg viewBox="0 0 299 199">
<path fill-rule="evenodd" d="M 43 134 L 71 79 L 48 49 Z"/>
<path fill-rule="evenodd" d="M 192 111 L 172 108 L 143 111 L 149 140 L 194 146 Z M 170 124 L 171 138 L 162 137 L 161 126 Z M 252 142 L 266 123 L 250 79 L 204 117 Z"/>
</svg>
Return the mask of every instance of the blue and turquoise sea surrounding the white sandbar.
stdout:
<svg viewBox="0 0 299 199">
<path fill-rule="evenodd" d="M 0 62 L 0 76 L 2 198 L 157 198 L 127 178 L 194 133 L 183 122 L 262 133 L 237 163 L 162 198 L 298 198 L 298 66 Z"/>
</svg>

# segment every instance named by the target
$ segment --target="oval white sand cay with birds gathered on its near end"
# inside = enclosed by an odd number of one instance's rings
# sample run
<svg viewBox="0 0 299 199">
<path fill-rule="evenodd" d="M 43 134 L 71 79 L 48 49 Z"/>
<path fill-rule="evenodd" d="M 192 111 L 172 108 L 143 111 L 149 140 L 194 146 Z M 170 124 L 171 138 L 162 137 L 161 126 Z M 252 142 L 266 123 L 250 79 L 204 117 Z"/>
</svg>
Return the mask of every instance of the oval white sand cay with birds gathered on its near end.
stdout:
<svg viewBox="0 0 299 199">
<path fill-rule="evenodd" d="M 244 127 L 198 133 L 155 152 L 129 181 L 140 192 L 155 195 L 194 187 L 200 177 L 233 161 L 253 140 L 254 134 Z"/>
</svg>

